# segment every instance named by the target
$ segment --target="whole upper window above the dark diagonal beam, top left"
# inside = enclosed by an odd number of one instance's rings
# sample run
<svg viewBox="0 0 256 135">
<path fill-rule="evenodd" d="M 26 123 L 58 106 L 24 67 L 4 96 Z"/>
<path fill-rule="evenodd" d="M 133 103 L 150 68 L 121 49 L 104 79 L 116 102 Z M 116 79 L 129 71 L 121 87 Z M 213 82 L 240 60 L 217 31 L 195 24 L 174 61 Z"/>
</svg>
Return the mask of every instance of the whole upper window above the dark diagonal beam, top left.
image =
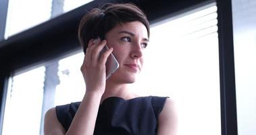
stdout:
<svg viewBox="0 0 256 135">
<path fill-rule="evenodd" d="M 90 1 L 93 0 L 9 0 L 5 39 Z"/>
</svg>

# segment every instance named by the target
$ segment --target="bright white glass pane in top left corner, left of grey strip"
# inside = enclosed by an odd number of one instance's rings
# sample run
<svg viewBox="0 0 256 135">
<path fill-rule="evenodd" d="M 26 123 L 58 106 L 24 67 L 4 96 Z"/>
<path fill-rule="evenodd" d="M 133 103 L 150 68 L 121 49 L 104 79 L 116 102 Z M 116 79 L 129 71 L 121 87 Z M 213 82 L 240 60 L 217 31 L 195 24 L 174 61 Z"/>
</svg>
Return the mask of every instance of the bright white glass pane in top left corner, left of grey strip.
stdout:
<svg viewBox="0 0 256 135">
<path fill-rule="evenodd" d="M 51 17 L 51 0 L 9 0 L 5 39 Z"/>
</svg>

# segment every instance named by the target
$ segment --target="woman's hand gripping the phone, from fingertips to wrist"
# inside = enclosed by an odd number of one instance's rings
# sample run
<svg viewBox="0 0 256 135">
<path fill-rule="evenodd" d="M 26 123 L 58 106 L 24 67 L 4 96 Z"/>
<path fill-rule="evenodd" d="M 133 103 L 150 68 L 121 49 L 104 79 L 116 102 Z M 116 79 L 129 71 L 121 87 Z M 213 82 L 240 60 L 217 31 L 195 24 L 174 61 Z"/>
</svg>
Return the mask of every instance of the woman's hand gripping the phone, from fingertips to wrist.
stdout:
<svg viewBox="0 0 256 135">
<path fill-rule="evenodd" d="M 107 45 L 107 41 L 101 41 L 100 38 L 91 39 L 84 56 L 84 62 L 80 68 L 86 83 L 86 93 L 99 92 L 103 94 L 106 83 L 106 67 L 107 57 L 113 51 L 113 48 L 105 51 L 100 55 L 103 47 Z"/>
</svg>

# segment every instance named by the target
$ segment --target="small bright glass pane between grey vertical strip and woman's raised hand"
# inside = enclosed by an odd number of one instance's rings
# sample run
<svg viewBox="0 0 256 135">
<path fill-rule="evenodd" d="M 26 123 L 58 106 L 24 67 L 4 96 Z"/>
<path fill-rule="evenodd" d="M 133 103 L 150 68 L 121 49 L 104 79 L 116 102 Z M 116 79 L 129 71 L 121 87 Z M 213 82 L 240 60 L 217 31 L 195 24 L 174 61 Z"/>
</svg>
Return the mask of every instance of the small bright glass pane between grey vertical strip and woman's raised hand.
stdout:
<svg viewBox="0 0 256 135">
<path fill-rule="evenodd" d="M 56 87 L 55 105 L 82 101 L 85 93 L 85 84 L 80 72 L 84 53 L 78 53 L 59 61 L 59 80 Z"/>
</svg>

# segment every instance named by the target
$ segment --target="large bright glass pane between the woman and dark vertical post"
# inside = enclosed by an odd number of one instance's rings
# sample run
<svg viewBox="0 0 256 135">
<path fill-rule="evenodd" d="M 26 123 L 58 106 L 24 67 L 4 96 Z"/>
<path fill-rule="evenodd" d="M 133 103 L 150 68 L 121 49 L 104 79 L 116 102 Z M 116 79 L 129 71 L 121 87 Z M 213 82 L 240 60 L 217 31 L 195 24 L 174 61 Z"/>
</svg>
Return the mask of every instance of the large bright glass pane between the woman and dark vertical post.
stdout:
<svg viewBox="0 0 256 135">
<path fill-rule="evenodd" d="M 221 134 L 217 7 L 151 28 L 140 95 L 168 96 L 178 106 L 180 134 Z M 149 77 L 150 76 L 150 77 Z"/>
</svg>

